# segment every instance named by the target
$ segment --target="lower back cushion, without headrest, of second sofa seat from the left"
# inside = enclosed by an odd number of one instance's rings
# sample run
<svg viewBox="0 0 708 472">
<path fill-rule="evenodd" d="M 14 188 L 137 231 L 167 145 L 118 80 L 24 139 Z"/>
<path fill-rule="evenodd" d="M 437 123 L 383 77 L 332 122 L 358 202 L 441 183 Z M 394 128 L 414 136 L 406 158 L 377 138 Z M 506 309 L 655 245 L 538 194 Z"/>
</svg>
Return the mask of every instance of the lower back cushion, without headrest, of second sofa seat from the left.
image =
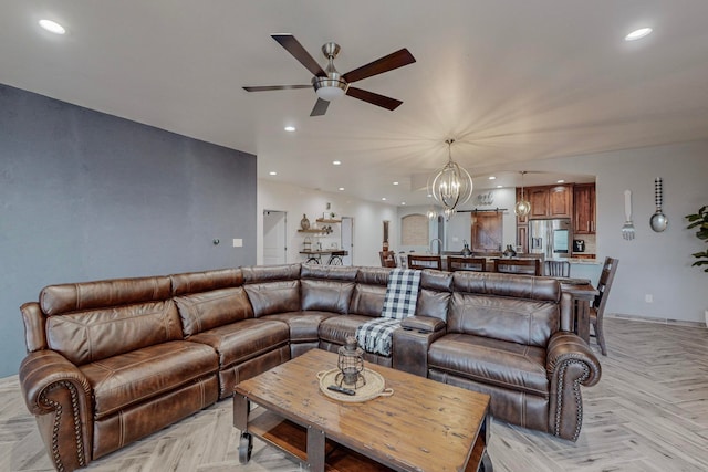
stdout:
<svg viewBox="0 0 708 472">
<path fill-rule="evenodd" d="M 185 337 L 217 326 L 252 318 L 243 287 L 212 290 L 175 297 Z"/>
</svg>

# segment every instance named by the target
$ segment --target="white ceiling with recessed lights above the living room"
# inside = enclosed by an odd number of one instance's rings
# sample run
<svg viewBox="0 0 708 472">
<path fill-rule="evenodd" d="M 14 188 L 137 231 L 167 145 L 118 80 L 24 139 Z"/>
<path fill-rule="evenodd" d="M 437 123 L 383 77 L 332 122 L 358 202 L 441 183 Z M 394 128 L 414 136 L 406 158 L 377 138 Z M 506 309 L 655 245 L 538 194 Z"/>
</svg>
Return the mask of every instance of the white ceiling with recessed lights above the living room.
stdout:
<svg viewBox="0 0 708 472">
<path fill-rule="evenodd" d="M 1 0 L 0 83 L 253 153 L 263 179 L 425 204 L 447 138 L 477 188 L 518 185 L 529 160 L 707 138 L 706 20 L 706 0 Z M 416 63 L 356 83 L 404 104 L 310 117 L 311 90 L 247 93 L 310 83 L 272 33 L 323 66 L 336 41 L 340 72 L 407 48 Z"/>
</svg>

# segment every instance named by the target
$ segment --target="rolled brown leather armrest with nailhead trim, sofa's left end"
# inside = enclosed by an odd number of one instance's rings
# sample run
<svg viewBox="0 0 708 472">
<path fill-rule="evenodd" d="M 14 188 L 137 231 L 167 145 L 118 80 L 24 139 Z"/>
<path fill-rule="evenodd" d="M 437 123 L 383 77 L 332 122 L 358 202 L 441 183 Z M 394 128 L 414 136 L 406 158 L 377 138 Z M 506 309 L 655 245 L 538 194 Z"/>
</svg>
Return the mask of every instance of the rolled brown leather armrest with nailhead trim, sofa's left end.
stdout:
<svg viewBox="0 0 708 472">
<path fill-rule="evenodd" d="M 40 436 L 56 470 L 73 471 L 91 461 L 92 388 L 79 368 L 54 350 L 28 354 L 20 387 L 37 418 Z"/>
</svg>

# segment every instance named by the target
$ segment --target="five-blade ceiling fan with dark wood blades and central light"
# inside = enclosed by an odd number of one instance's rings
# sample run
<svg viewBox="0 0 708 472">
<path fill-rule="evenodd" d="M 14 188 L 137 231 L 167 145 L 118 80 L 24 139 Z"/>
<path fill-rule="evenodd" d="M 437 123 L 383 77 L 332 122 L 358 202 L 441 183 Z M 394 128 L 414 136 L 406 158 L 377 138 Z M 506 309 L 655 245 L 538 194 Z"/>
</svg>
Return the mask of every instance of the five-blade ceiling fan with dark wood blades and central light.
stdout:
<svg viewBox="0 0 708 472">
<path fill-rule="evenodd" d="M 352 87 L 350 84 L 352 82 L 383 74 L 384 72 L 393 71 L 394 69 L 403 67 L 404 65 L 416 62 L 413 54 L 404 48 L 377 59 L 374 62 L 350 71 L 346 74 L 340 74 L 337 70 L 334 69 L 334 57 L 336 57 L 340 52 L 339 44 L 329 42 L 322 46 L 322 53 L 329 60 L 326 69 L 322 70 L 320 64 L 317 64 L 317 62 L 308 53 L 308 51 L 305 51 L 302 44 L 300 44 L 292 34 L 272 34 L 271 38 L 278 41 L 285 51 L 292 54 L 293 57 L 314 74 L 314 77 L 312 77 L 312 85 L 264 85 L 243 87 L 243 90 L 247 92 L 268 92 L 313 87 L 317 94 L 317 102 L 314 104 L 314 108 L 312 108 L 310 116 L 324 115 L 327 111 L 327 106 L 330 106 L 330 102 L 344 94 L 386 109 L 396 109 L 403 102 L 364 91 L 362 88 Z"/>
</svg>

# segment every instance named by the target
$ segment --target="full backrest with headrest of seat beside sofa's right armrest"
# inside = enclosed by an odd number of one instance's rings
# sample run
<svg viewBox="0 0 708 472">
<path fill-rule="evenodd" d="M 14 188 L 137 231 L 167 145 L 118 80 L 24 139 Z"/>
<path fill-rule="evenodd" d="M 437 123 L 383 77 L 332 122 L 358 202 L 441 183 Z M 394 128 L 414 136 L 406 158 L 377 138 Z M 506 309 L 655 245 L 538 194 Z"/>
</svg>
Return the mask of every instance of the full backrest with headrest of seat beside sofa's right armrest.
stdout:
<svg viewBox="0 0 708 472">
<path fill-rule="evenodd" d="M 448 333 L 545 347 L 560 324 L 560 284 L 553 279 L 455 272 Z"/>
</svg>

